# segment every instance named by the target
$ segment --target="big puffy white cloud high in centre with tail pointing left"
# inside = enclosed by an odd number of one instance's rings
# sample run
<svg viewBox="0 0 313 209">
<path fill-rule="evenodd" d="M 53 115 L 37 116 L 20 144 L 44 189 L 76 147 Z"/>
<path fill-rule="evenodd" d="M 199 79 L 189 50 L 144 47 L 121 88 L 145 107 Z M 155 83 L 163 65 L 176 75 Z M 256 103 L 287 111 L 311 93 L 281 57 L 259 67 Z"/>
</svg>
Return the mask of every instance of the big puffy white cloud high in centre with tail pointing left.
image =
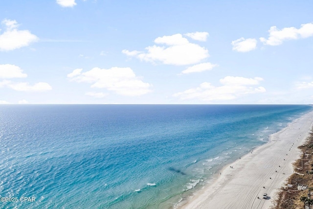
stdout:
<svg viewBox="0 0 313 209">
<path fill-rule="evenodd" d="M 142 61 L 167 65 L 191 65 L 201 62 L 209 57 L 208 50 L 197 44 L 190 43 L 181 34 L 158 37 L 154 41 L 156 44 L 165 46 L 148 46 L 147 52 L 137 50 L 122 50 L 127 56 L 136 57 Z"/>
</svg>

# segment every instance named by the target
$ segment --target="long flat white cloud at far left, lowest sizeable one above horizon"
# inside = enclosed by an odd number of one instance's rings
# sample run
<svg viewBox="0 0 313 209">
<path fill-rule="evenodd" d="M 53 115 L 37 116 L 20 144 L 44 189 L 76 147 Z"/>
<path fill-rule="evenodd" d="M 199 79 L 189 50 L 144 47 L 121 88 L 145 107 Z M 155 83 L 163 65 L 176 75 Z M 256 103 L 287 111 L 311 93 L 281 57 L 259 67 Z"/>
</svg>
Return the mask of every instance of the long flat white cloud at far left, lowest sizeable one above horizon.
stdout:
<svg viewBox="0 0 313 209">
<path fill-rule="evenodd" d="M 23 82 L 23 83 L 12 83 L 9 82 L 7 84 L 7 87 L 20 92 L 45 92 L 52 89 L 52 87 L 44 82 L 39 82 L 32 85 L 29 85 L 29 83 Z"/>
</svg>

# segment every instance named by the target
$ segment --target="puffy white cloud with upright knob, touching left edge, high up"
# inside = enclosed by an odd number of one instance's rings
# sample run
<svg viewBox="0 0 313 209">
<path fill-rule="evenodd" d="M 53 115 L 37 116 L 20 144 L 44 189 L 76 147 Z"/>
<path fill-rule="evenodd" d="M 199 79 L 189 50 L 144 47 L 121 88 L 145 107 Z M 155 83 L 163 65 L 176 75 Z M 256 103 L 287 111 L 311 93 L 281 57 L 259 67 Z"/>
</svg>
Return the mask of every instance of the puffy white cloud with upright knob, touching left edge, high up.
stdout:
<svg viewBox="0 0 313 209">
<path fill-rule="evenodd" d="M 3 20 L 5 31 L 0 34 L 0 50 L 9 51 L 23 46 L 28 46 L 32 42 L 38 41 L 38 37 L 28 30 L 18 30 L 18 23 L 15 20 Z"/>
</svg>

